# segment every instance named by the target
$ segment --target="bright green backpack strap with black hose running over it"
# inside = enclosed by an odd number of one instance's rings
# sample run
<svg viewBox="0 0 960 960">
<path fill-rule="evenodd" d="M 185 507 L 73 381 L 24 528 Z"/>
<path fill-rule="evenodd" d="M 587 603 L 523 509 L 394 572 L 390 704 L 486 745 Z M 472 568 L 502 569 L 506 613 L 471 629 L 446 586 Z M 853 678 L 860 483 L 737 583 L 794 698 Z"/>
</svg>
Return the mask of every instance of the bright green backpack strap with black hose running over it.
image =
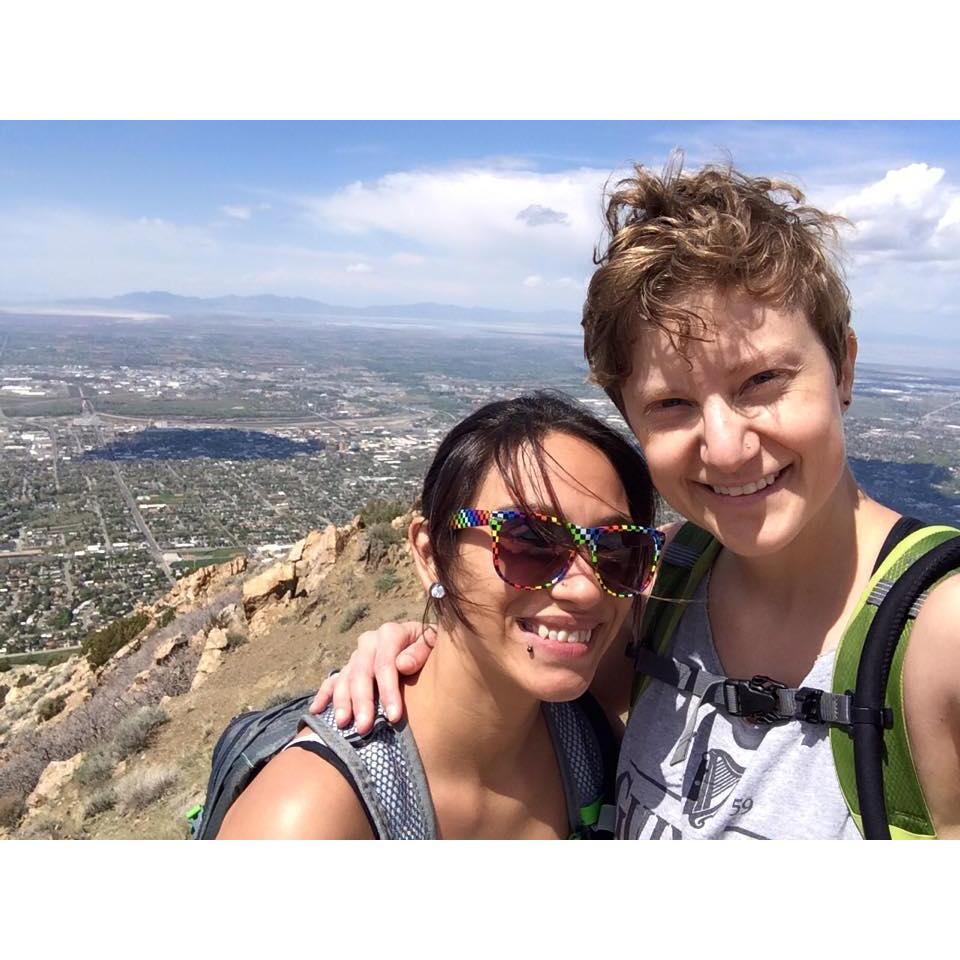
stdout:
<svg viewBox="0 0 960 960">
<path fill-rule="evenodd" d="M 899 532 L 902 534 L 909 529 L 910 525 L 904 524 Z M 868 647 L 867 638 L 880 604 L 893 585 L 902 577 L 909 577 L 911 568 L 931 551 L 960 535 L 960 530 L 954 527 L 927 526 L 913 529 L 906 533 L 899 543 L 891 545 L 895 532 L 896 528 L 887 538 L 884 544 L 887 555 L 881 560 L 861 594 L 840 640 L 833 672 L 834 693 L 849 693 L 855 690 L 859 672 L 870 666 L 863 663 L 867 656 L 865 649 L 871 648 Z M 949 576 L 950 572 L 947 571 L 944 576 Z M 939 580 L 936 582 L 939 583 Z M 899 637 L 895 638 L 897 642 L 892 651 L 886 682 L 885 705 L 889 709 L 888 719 L 892 721 L 892 726 L 888 724 L 883 737 L 883 794 L 890 835 L 895 839 L 936 837 L 930 811 L 917 779 L 903 709 L 903 662 L 914 620 L 927 592 L 929 591 L 917 590 L 918 595 L 912 597 L 912 605 L 907 610 L 906 618 L 899 625 Z M 886 665 L 877 666 L 884 668 Z M 830 731 L 830 744 L 844 801 L 858 828 L 863 832 L 860 798 L 857 793 L 854 741 L 849 731 L 833 728 Z"/>
</svg>

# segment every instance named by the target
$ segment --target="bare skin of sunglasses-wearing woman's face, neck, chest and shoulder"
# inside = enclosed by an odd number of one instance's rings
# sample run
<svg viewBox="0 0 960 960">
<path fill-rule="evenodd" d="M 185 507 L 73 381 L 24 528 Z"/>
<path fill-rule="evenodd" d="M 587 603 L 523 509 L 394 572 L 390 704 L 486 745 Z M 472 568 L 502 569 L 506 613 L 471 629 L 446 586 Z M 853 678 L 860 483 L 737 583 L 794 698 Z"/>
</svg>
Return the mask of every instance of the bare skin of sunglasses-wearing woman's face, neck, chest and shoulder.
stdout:
<svg viewBox="0 0 960 960">
<path fill-rule="evenodd" d="M 582 526 L 629 518 L 616 471 L 595 447 L 561 433 L 544 441 L 548 472 L 564 516 Z M 552 513 L 543 478 L 526 460 L 522 493 Z M 503 478 L 488 472 L 470 506 L 515 506 Z M 456 586 L 469 624 L 444 618 L 434 655 L 406 684 L 404 698 L 437 812 L 440 835 L 557 838 L 569 830 L 563 784 L 540 709 L 590 685 L 632 601 L 605 592 L 577 556 L 543 590 L 517 590 L 497 575 L 487 529 L 457 534 Z M 424 590 L 436 579 L 430 533 L 410 527 Z M 588 643 L 563 644 L 527 627 L 590 630 Z M 532 654 L 530 649 L 532 649 Z M 369 836 L 346 781 L 323 760 L 288 750 L 271 761 L 234 804 L 220 838 Z"/>
</svg>

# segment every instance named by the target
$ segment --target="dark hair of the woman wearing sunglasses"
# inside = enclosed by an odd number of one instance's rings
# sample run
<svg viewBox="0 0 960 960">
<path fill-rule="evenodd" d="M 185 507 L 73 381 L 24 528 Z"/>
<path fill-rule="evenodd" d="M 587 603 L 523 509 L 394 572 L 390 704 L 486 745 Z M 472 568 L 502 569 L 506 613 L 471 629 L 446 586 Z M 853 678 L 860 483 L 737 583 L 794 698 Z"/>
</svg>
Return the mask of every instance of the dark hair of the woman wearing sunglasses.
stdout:
<svg viewBox="0 0 960 960">
<path fill-rule="evenodd" d="M 423 482 L 420 512 L 427 521 L 437 578 L 446 590 L 440 600 L 429 599 L 424 622 L 431 612 L 441 621 L 458 619 L 469 625 L 464 604 L 469 604 L 456 583 L 457 532 L 450 527 L 454 512 L 474 506 L 473 499 L 490 469 L 503 477 L 520 510 L 534 509 L 523 496 L 523 477 L 531 462 L 540 470 L 544 502 L 564 519 L 550 483 L 552 458 L 544 450 L 548 434 L 577 437 L 599 450 L 623 484 L 634 523 L 654 522 L 657 495 L 646 461 L 632 438 L 604 423 L 572 398 L 554 391 L 538 391 L 498 400 L 474 411 L 440 442 Z M 524 463 L 527 464 L 525 469 Z"/>
</svg>

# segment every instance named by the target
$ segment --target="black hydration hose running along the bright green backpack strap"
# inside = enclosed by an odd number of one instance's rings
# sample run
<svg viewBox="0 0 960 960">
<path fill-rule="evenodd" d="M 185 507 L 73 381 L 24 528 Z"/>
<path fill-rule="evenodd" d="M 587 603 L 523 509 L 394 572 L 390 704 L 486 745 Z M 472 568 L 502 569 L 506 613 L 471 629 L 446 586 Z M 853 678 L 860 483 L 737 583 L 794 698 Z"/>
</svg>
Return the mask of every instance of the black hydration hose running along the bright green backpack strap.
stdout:
<svg viewBox="0 0 960 960">
<path fill-rule="evenodd" d="M 853 698 L 853 763 L 863 836 L 889 840 L 883 791 L 883 730 L 890 664 L 916 599 L 941 577 L 960 567 L 960 537 L 934 547 L 917 560 L 880 603 L 864 641 Z"/>
</svg>

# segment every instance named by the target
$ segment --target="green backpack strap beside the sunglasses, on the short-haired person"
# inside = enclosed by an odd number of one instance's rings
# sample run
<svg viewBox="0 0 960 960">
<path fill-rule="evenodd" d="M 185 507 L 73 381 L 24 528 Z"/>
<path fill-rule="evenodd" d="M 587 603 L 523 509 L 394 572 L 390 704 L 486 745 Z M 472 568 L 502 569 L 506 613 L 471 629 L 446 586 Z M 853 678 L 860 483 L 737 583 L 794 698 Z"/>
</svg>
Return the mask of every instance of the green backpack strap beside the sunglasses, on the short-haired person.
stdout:
<svg viewBox="0 0 960 960">
<path fill-rule="evenodd" d="M 646 600 L 639 636 L 628 648 L 636 654 L 647 650 L 662 656 L 670 649 L 673 634 L 689 600 L 713 564 L 720 541 L 696 524 L 685 523 L 670 541 L 660 561 L 653 589 Z M 630 707 L 646 689 L 650 678 L 641 672 L 634 677 Z"/>
</svg>

